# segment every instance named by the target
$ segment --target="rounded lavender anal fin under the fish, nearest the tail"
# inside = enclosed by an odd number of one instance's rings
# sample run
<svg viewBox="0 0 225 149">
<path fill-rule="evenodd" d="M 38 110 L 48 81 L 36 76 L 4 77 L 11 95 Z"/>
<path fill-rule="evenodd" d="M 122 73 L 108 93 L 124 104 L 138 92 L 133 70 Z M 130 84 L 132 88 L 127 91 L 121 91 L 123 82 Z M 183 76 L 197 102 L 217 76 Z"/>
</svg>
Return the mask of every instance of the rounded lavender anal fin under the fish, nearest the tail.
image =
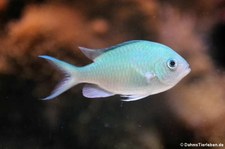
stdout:
<svg viewBox="0 0 225 149">
<path fill-rule="evenodd" d="M 83 95 L 87 98 L 103 98 L 113 96 L 113 93 L 110 93 L 97 85 L 87 84 L 83 88 Z"/>
</svg>

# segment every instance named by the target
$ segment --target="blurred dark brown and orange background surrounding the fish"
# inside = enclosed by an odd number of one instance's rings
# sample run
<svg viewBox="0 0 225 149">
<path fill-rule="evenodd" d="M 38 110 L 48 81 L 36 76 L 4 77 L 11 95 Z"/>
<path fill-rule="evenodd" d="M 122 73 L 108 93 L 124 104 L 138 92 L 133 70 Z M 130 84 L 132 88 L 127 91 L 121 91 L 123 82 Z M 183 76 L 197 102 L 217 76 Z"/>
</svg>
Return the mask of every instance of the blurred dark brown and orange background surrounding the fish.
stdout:
<svg viewBox="0 0 225 149">
<path fill-rule="evenodd" d="M 62 74 L 38 55 L 91 63 L 78 46 L 166 44 L 190 63 L 173 89 L 136 102 L 90 100 L 82 84 L 42 101 Z M 224 0 L 0 0 L 1 149 L 225 145 Z"/>
</svg>

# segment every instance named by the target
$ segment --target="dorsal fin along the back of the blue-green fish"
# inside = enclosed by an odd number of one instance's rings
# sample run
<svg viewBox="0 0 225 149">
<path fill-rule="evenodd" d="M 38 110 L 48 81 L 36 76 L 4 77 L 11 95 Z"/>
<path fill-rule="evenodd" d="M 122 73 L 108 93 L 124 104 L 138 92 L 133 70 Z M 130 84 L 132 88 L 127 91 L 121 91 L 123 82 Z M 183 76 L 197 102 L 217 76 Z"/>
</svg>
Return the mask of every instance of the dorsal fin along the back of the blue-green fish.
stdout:
<svg viewBox="0 0 225 149">
<path fill-rule="evenodd" d="M 126 41 L 120 44 L 117 44 L 115 46 L 111 46 L 109 48 L 103 48 L 103 49 L 89 49 L 89 48 L 85 48 L 85 47 L 78 47 L 81 52 L 87 56 L 89 59 L 94 60 L 95 58 L 97 58 L 98 56 L 100 56 L 102 53 L 105 53 L 107 51 L 113 50 L 115 48 L 121 47 L 121 46 L 125 46 L 128 44 L 132 44 L 135 42 L 139 42 L 141 40 L 131 40 L 131 41 Z"/>
</svg>

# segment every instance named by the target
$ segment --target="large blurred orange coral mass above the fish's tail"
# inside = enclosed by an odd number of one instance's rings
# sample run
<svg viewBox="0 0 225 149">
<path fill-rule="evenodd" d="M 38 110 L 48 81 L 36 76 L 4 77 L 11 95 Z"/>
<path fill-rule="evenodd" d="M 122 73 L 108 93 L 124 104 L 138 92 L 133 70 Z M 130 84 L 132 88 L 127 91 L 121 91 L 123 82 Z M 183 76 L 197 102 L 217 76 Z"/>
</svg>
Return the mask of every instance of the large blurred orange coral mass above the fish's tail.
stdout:
<svg viewBox="0 0 225 149">
<path fill-rule="evenodd" d="M 90 32 L 84 16 L 69 6 L 30 5 L 20 20 L 8 25 L 7 34 L 0 40 L 1 71 L 15 70 L 7 62 L 10 59 L 26 67 L 30 56 L 35 59 L 47 51 L 60 53 L 59 49 L 76 49 L 75 45 L 84 40 L 95 41 Z"/>
</svg>

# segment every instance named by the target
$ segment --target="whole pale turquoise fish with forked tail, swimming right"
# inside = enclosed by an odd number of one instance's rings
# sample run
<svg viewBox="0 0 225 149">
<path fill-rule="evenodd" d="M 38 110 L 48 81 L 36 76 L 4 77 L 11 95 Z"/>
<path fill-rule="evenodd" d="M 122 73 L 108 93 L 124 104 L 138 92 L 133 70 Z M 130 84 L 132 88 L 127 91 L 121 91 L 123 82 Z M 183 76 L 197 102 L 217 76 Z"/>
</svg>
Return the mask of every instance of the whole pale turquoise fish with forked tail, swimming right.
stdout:
<svg viewBox="0 0 225 149">
<path fill-rule="evenodd" d="M 103 49 L 79 49 L 93 62 L 77 67 L 51 56 L 39 56 L 65 74 L 43 100 L 84 83 L 82 93 L 86 98 L 120 95 L 122 101 L 135 101 L 172 88 L 191 71 L 188 62 L 173 49 L 153 41 L 131 40 Z"/>
</svg>

